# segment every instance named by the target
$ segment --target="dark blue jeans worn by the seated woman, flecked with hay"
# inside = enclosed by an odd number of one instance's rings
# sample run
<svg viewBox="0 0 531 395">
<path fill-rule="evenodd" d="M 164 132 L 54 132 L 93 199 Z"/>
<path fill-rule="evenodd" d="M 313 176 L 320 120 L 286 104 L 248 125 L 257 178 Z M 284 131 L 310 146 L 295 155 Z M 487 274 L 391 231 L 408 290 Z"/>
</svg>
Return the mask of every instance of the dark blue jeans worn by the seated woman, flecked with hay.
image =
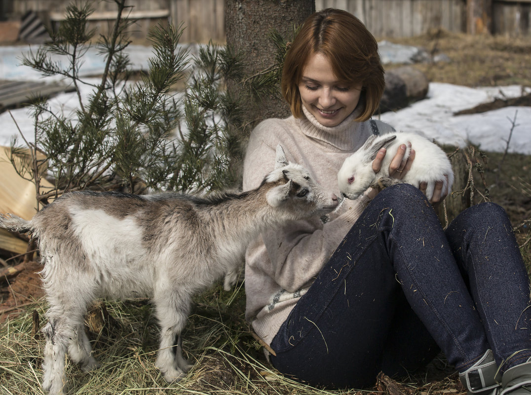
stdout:
<svg viewBox="0 0 531 395">
<path fill-rule="evenodd" d="M 507 370 L 531 356 L 529 302 L 499 205 L 475 205 L 445 231 L 425 196 L 399 184 L 373 199 L 324 265 L 273 339 L 271 362 L 336 388 L 413 371 L 439 348 L 460 372 L 487 349 Z"/>
</svg>

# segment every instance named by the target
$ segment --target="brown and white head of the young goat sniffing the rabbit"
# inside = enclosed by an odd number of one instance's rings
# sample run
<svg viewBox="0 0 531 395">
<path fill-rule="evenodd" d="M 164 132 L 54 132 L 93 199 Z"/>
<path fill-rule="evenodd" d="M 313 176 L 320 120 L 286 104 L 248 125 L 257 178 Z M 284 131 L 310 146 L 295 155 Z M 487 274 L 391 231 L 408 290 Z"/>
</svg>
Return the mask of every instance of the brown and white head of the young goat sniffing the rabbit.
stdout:
<svg viewBox="0 0 531 395">
<path fill-rule="evenodd" d="M 303 166 L 286 160 L 284 150 L 277 145 L 275 170 L 265 178 L 269 185 L 268 204 L 286 213 L 290 219 L 320 216 L 338 205 L 337 196 L 324 191 Z"/>
</svg>

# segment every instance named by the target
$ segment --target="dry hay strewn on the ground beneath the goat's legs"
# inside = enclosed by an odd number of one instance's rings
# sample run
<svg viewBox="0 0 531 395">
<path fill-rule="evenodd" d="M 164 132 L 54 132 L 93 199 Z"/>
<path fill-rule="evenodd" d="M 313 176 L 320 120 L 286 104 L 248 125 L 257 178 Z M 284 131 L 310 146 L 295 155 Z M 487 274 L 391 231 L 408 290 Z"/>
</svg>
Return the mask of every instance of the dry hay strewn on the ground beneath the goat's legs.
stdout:
<svg viewBox="0 0 531 395">
<path fill-rule="evenodd" d="M 265 361 L 244 323 L 243 289 L 226 293 L 221 285 L 196 298 L 195 310 L 183 333 L 183 348 L 194 363 L 178 383 L 168 384 L 154 366 L 158 329 L 147 300 L 106 302 L 109 319 L 98 332 L 89 331 L 93 352 L 101 364 L 84 373 L 67 360 L 70 394 L 354 394 L 326 391 L 279 375 Z M 208 303 L 208 304 L 205 304 Z M 237 306 L 239 304 L 239 307 Z M 39 300 L 10 317 L 0 331 L 0 393 L 40 394 L 44 340 L 32 334 L 32 311 L 42 317 Z M 41 324 L 44 320 L 41 319 Z"/>
</svg>

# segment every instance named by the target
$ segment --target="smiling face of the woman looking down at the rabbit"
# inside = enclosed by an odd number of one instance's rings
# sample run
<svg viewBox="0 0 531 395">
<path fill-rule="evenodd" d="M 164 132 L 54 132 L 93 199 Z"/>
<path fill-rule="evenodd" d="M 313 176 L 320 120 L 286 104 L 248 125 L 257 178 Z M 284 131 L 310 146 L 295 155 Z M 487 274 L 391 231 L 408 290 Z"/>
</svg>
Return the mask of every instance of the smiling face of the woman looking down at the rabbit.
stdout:
<svg viewBox="0 0 531 395">
<path fill-rule="evenodd" d="M 323 126 L 337 126 L 356 108 L 362 85 L 342 83 L 328 58 L 315 53 L 304 67 L 298 84 L 302 103 Z"/>
</svg>

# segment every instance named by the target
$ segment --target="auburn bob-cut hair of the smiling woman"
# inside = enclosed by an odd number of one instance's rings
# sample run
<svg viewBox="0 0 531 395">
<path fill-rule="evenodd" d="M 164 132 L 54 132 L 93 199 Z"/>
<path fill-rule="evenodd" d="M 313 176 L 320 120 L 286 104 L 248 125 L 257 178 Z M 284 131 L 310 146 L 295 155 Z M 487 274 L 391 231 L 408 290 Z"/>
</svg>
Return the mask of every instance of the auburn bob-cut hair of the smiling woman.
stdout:
<svg viewBox="0 0 531 395">
<path fill-rule="evenodd" d="M 357 122 L 367 121 L 380 105 L 385 81 L 378 43 L 354 15 L 327 8 L 310 15 L 290 45 L 282 69 L 281 91 L 292 114 L 302 118 L 298 84 L 304 67 L 315 53 L 326 56 L 340 82 L 362 84 Z"/>
</svg>

